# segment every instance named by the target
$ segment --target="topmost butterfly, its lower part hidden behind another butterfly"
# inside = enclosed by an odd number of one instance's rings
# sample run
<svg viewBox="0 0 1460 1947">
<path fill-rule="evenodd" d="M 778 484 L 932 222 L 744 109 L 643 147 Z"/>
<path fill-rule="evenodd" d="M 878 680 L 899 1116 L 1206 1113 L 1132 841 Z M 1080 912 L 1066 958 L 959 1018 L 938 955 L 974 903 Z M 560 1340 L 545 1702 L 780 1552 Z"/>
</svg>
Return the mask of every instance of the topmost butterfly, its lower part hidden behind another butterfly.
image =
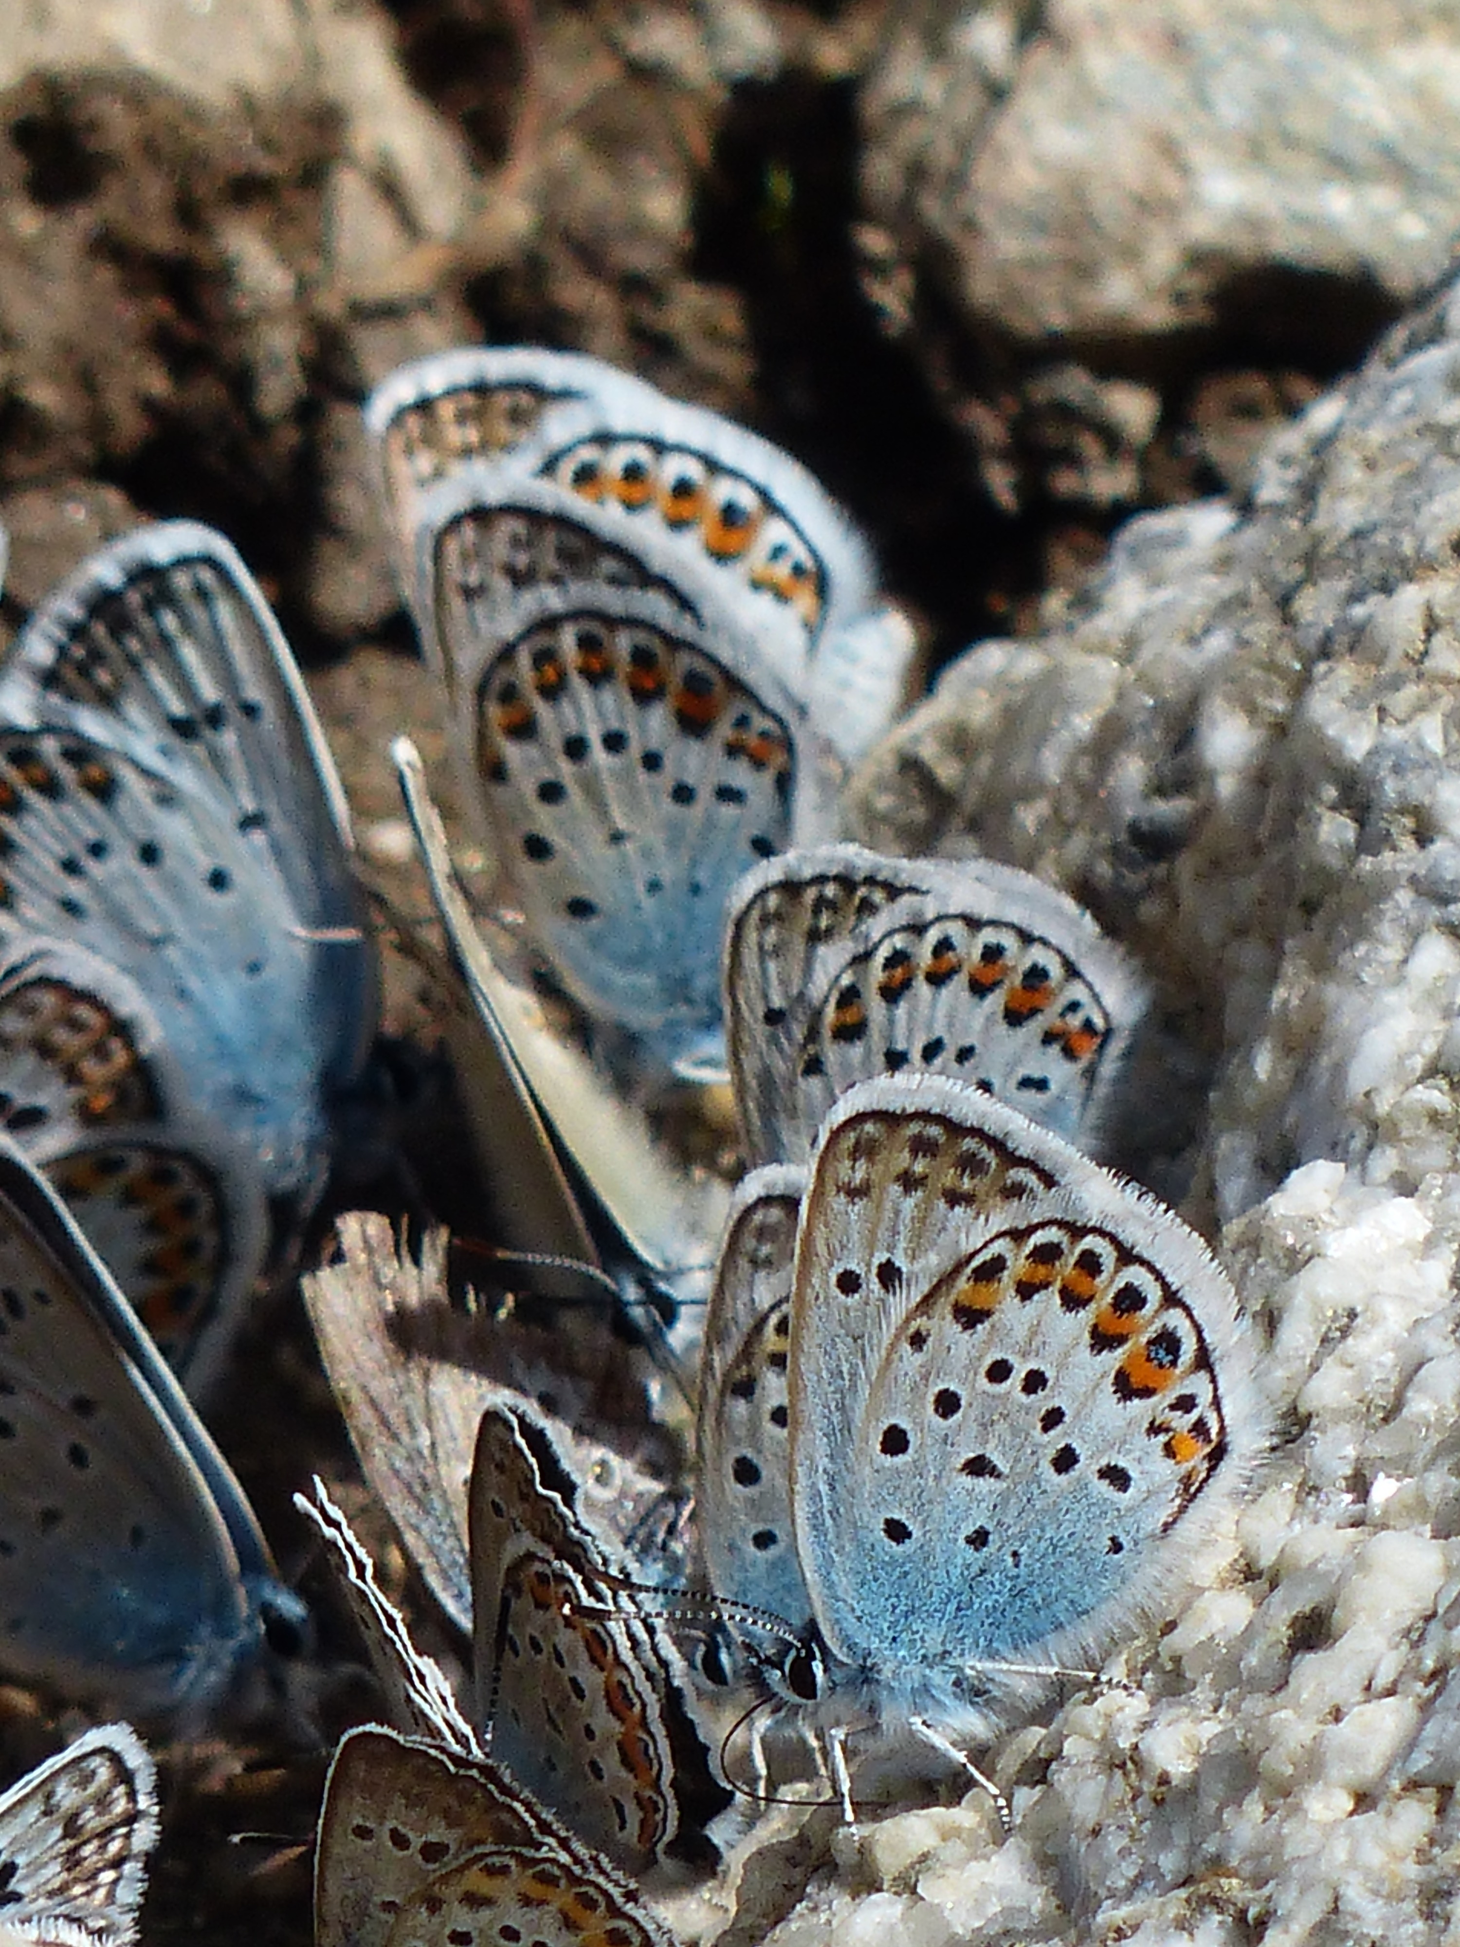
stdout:
<svg viewBox="0 0 1460 1947">
<path fill-rule="evenodd" d="M 592 537 L 590 553 L 642 565 L 707 621 L 749 629 L 843 759 L 899 713 L 913 639 L 880 604 L 866 543 L 798 461 L 748 428 L 602 360 L 539 347 L 461 347 L 401 366 L 368 401 L 366 426 L 426 639 L 438 537 L 491 553 L 481 541 L 502 530 L 493 496 L 506 479 L 539 489 L 526 506 L 539 535 L 553 516 L 574 570 Z M 516 537 L 506 569 L 522 580 L 522 524 Z M 551 555 L 561 572 L 561 541 Z"/>
</svg>

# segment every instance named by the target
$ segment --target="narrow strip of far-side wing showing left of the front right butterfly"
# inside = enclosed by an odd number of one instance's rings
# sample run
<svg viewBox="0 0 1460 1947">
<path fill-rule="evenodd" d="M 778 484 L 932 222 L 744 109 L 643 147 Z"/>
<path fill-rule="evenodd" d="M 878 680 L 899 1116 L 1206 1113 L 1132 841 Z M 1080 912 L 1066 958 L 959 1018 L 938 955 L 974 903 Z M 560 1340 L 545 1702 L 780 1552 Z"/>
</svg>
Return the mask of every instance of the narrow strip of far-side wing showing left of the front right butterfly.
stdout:
<svg viewBox="0 0 1460 1947">
<path fill-rule="evenodd" d="M 790 1521 L 790 1271 L 804 1176 L 771 1166 L 736 1186 L 705 1314 L 695 1509 L 716 1597 L 802 1630 L 812 1604 Z"/>
</svg>

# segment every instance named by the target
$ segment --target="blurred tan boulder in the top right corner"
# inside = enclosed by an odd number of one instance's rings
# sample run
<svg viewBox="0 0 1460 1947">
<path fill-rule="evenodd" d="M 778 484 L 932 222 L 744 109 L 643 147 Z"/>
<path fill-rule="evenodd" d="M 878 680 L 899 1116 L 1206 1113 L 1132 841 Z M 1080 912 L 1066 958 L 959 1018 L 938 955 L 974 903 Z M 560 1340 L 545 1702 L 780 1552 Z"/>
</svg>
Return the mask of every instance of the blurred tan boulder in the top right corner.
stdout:
<svg viewBox="0 0 1460 1947">
<path fill-rule="evenodd" d="M 1193 352 L 1337 370 L 1444 269 L 1458 107 L 1442 0 L 923 0 L 862 90 L 868 273 L 995 491 L 1129 504 L 1143 419 L 1203 452 Z"/>
</svg>

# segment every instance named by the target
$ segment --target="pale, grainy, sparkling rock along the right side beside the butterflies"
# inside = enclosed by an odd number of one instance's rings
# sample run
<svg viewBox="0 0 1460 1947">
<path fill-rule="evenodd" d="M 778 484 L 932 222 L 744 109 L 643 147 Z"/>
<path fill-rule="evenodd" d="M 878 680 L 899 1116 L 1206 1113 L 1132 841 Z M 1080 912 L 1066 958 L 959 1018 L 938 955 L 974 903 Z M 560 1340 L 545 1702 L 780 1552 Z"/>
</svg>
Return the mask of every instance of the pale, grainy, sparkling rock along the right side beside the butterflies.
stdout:
<svg viewBox="0 0 1460 1947">
<path fill-rule="evenodd" d="M 1207 1038 L 1205 1178 L 1277 1439 L 1226 1573 L 1123 1667 L 1139 1698 L 1055 1723 L 1012 1844 L 894 1820 L 870 1842 L 890 1891 L 779 1947 L 870 1939 L 878 1914 L 929 1947 L 1450 1937 L 1456 428 L 1450 286 L 1269 448 L 1246 504 L 1133 522 L 1063 617 L 971 648 L 858 779 L 864 837 L 975 841 L 1082 890 Z"/>
</svg>

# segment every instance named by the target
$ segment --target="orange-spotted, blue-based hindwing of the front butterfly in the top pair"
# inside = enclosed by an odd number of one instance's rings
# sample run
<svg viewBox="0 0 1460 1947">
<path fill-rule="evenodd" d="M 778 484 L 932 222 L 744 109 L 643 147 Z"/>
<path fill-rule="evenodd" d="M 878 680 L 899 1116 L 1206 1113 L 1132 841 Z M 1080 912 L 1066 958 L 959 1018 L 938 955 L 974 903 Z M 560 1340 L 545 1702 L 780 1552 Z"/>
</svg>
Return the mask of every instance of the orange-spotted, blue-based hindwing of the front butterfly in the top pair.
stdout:
<svg viewBox="0 0 1460 1947">
<path fill-rule="evenodd" d="M 674 1063 L 718 1034 L 724 900 L 820 816 L 794 699 L 718 617 L 539 590 L 465 662 L 457 715 L 493 859 L 590 1016 Z"/>
</svg>

